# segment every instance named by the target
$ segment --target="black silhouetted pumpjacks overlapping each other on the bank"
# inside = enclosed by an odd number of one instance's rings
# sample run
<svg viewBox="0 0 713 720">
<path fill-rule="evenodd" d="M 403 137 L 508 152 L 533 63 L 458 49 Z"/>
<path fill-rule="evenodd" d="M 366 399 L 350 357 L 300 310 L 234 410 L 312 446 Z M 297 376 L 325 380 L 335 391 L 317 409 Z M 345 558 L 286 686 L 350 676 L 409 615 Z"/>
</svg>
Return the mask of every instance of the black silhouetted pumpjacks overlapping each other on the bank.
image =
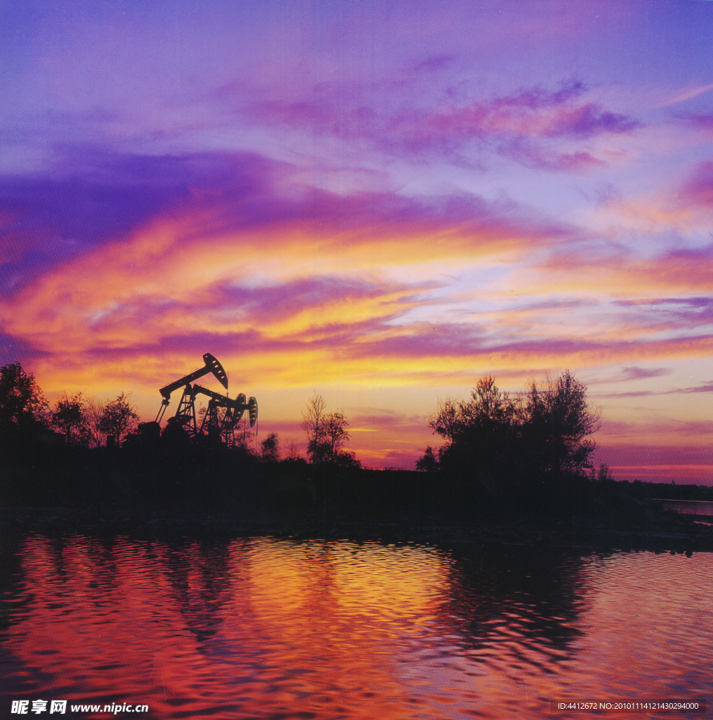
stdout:
<svg viewBox="0 0 713 720">
<path fill-rule="evenodd" d="M 174 415 L 176 423 L 183 427 L 190 436 L 202 435 L 205 430 L 208 436 L 220 436 L 224 438 L 227 444 L 233 444 L 235 442 L 235 426 L 240 422 L 245 410 L 247 410 L 250 418 L 250 427 L 255 426 L 258 420 L 258 401 L 254 397 L 250 397 L 250 400 L 246 402 L 245 395 L 242 392 L 235 400 L 231 400 L 230 397 L 221 395 L 214 390 L 208 390 L 202 385 L 191 385 L 194 380 L 212 373 L 225 390 L 228 389 L 228 376 L 219 361 L 210 353 L 204 354 L 203 361 L 203 367 L 181 377 L 176 382 L 165 385 L 158 391 L 163 400 L 161 400 L 161 407 L 158 410 L 158 415 L 156 415 L 156 422 L 160 423 L 163 419 L 165 410 L 171 402 L 171 393 L 178 390 L 179 387 L 183 387 L 183 395 L 181 395 L 178 410 Z M 198 428 L 196 422 L 196 395 L 199 394 L 210 398 L 200 428 Z M 224 410 L 222 415 L 219 413 L 219 409 Z"/>
</svg>

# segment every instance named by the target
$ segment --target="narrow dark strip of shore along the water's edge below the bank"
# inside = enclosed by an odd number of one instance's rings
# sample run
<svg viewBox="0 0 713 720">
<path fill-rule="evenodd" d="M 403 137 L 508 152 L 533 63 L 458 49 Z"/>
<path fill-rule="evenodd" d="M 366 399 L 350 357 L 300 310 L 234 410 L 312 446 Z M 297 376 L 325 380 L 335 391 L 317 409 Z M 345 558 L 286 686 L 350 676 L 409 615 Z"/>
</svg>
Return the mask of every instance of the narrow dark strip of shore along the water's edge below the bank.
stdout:
<svg viewBox="0 0 713 720">
<path fill-rule="evenodd" d="M 551 523 L 532 518 L 477 524 L 443 522 L 437 518 L 425 523 L 330 518 L 319 523 L 264 511 L 187 513 L 124 510 L 96 513 L 76 508 L 5 507 L 0 508 L 0 534 L 5 539 L 35 533 L 47 536 L 127 536 L 145 540 L 272 536 L 294 540 L 348 539 L 397 544 L 466 543 L 609 552 L 671 552 L 690 557 L 694 552 L 713 552 L 713 527 L 698 524 L 696 519 L 695 516 L 665 513 L 655 528 L 622 530 L 601 528 L 584 521 Z"/>
</svg>

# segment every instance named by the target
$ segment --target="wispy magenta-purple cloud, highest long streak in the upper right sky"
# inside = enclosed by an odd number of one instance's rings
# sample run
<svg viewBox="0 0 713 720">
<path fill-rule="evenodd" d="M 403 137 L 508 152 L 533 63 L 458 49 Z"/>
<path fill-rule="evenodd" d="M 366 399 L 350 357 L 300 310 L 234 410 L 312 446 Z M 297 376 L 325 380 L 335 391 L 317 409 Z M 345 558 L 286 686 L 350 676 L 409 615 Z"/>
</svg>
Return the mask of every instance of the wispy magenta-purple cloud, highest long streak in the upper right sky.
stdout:
<svg viewBox="0 0 713 720">
<path fill-rule="evenodd" d="M 437 65 L 448 58 L 437 56 L 432 60 Z M 578 172 L 604 163 L 583 150 L 561 153 L 542 148 L 542 141 L 621 135 L 642 127 L 626 115 L 591 102 L 578 102 L 584 91 L 581 82 L 570 81 L 555 92 L 537 86 L 485 102 L 450 103 L 430 111 L 402 109 L 391 114 L 366 106 L 345 107 L 327 96 L 299 102 L 262 102 L 247 114 L 258 124 L 283 125 L 343 140 L 362 138 L 395 155 L 435 152 L 462 161 L 460 153 L 465 146 L 476 143 L 480 150 L 527 166 Z"/>
</svg>

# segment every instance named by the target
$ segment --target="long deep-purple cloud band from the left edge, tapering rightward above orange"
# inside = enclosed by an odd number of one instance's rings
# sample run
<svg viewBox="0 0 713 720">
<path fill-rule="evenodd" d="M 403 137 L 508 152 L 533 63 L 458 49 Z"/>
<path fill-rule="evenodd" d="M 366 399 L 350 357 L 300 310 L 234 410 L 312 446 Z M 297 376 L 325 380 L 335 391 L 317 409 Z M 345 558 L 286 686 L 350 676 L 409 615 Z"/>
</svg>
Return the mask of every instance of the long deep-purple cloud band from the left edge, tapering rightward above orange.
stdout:
<svg viewBox="0 0 713 720">
<path fill-rule="evenodd" d="M 201 228 L 206 238 L 278 225 L 349 231 L 348 242 L 357 235 L 378 242 L 386 228 L 422 233 L 457 227 L 486 240 L 502 235 L 530 241 L 573 232 L 527 217 L 512 202 L 467 194 L 332 194 L 298 184 L 297 169 L 255 153 L 132 156 L 65 150 L 52 172 L 0 179 L 0 293 L 12 295 L 57 264 L 162 217 L 207 214 L 209 223 Z M 278 238 L 276 233 L 276 243 Z"/>
</svg>

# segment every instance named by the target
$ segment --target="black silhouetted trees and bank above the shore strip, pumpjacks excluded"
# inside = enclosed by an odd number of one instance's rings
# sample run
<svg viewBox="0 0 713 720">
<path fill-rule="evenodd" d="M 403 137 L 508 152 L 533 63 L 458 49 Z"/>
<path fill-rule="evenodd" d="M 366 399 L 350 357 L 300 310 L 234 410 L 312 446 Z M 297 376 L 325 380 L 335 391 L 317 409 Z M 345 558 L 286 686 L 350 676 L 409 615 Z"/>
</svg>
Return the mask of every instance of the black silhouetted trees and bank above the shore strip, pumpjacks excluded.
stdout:
<svg viewBox="0 0 713 720">
<path fill-rule="evenodd" d="M 276 433 L 260 451 L 247 436 L 229 447 L 171 424 L 161 433 L 157 423 L 137 424 L 124 394 L 105 403 L 64 395 L 50 408 L 34 377 L 10 364 L 0 369 L 0 502 L 97 515 L 224 511 L 313 527 L 565 523 L 658 532 L 694 526 L 647 498 L 713 500 L 709 488 L 617 482 L 607 467 L 595 471 L 599 412 L 569 372 L 517 396 L 483 378 L 470 400 L 443 402 L 430 424 L 445 442 L 427 449 L 417 471 L 372 470 L 344 449 L 348 422 L 327 413 L 319 395 L 302 418 L 304 459 L 294 445 L 283 451 Z"/>
</svg>

